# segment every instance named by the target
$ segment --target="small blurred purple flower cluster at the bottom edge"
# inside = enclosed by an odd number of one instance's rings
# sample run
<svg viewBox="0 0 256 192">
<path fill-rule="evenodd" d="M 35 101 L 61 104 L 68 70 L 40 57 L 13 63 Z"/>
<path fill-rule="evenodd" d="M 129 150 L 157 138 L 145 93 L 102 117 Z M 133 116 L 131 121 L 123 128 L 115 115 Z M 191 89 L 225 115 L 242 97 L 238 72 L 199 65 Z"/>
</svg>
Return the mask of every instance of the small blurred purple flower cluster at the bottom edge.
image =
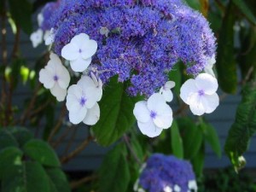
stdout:
<svg viewBox="0 0 256 192">
<path fill-rule="evenodd" d="M 180 192 L 190 191 L 189 181 L 195 181 L 195 174 L 189 161 L 164 154 L 153 154 L 139 178 L 139 185 L 148 192 L 163 192 L 166 187 L 172 191 L 177 185 Z"/>
</svg>

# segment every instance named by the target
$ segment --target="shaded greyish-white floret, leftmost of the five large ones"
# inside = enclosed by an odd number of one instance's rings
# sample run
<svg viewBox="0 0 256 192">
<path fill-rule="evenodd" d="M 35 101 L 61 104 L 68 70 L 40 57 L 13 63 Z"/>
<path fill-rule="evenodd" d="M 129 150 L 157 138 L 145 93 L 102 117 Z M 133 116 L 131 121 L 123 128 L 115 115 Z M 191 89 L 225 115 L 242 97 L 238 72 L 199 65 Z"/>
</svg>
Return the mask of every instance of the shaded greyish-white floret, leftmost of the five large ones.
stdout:
<svg viewBox="0 0 256 192">
<path fill-rule="evenodd" d="M 50 53 L 47 66 L 39 72 L 39 81 L 49 89 L 57 101 L 64 101 L 67 95 L 67 86 L 70 82 L 70 76 L 67 68 L 61 64 L 58 55 Z"/>
</svg>

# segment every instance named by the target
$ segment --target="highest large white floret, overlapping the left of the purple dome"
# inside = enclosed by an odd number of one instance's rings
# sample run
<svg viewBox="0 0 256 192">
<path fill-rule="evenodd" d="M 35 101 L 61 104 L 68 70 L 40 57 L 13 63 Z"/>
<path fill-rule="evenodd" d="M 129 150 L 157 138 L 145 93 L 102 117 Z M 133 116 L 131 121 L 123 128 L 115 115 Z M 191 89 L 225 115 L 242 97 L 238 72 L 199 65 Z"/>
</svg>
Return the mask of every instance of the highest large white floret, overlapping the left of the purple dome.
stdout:
<svg viewBox="0 0 256 192">
<path fill-rule="evenodd" d="M 85 33 L 80 33 L 71 39 L 61 49 L 61 56 L 70 61 L 70 66 L 75 72 L 84 72 L 90 65 L 91 56 L 95 55 L 97 43 Z"/>
</svg>

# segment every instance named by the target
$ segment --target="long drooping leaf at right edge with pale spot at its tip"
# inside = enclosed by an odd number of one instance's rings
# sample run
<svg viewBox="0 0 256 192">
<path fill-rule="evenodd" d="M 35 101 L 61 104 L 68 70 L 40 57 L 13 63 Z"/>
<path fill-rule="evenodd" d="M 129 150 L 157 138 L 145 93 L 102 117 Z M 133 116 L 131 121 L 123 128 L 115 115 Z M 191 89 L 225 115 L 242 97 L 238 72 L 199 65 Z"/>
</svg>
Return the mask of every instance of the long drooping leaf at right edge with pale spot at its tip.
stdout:
<svg viewBox="0 0 256 192">
<path fill-rule="evenodd" d="M 247 83 L 242 90 L 241 102 L 236 109 L 236 119 L 231 125 L 224 147 L 236 170 L 244 164 L 241 155 L 246 152 L 248 143 L 255 132 L 256 78 Z"/>
</svg>

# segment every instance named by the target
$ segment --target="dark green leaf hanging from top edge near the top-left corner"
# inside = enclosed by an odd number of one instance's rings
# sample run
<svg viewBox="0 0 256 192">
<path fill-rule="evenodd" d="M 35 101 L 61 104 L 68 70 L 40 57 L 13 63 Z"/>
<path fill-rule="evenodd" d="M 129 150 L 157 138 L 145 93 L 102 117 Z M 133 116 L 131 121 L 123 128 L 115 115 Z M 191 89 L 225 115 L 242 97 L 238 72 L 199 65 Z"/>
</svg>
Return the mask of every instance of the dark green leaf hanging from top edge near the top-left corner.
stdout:
<svg viewBox="0 0 256 192">
<path fill-rule="evenodd" d="M 28 0 L 8 0 L 10 14 L 17 26 L 20 26 L 24 32 L 32 32 L 32 3 Z"/>
</svg>

